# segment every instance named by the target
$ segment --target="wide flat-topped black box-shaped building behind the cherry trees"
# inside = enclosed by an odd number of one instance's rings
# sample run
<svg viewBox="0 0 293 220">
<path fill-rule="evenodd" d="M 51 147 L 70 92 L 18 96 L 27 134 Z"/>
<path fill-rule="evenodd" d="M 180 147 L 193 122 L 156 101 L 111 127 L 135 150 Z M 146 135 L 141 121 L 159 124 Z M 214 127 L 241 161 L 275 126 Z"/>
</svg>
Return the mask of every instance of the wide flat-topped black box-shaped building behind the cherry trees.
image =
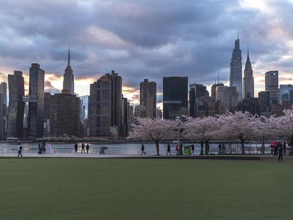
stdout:
<svg viewBox="0 0 293 220">
<path fill-rule="evenodd" d="M 163 119 L 188 115 L 188 77 L 163 77 Z"/>
</svg>

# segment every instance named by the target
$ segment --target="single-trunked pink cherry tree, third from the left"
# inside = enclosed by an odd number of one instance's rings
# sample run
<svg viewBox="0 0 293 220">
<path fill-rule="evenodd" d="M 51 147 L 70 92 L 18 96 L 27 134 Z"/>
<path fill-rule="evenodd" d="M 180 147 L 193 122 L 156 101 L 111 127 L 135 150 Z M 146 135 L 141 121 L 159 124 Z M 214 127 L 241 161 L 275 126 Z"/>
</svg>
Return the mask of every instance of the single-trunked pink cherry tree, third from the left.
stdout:
<svg viewBox="0 0 293 220">
<path fill-rule="evenodd" d="M 260 118 L 250 114 L 248 111 L 227 112 L 224 115 L 217 115 L 219 121 L 218 136 L 222 138 L 238 138 L 241 141 L 241 152 L 244 152 L 244 141 L 258 133 Z"/>
</svg>

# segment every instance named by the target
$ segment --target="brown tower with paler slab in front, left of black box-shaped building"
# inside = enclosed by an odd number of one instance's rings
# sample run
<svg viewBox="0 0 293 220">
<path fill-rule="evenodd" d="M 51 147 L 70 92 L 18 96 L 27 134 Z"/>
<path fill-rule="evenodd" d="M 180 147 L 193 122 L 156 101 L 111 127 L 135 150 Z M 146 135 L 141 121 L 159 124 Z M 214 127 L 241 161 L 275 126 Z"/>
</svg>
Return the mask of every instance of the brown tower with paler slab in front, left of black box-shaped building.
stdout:
<svg viewBox="0 0 293 220">
<path fill-rule="evenodd" d="M 143 105 L 147 108 L 147 117 L 154 119 L 156 117 L 156 104 L 157 104 L 156 82 L 149 82 L 148 79 L 144 79 L 144 82 L 141 82 L 139 84 L 139 90 L 140 90 L 140 93 L 139 93 L 140 105 Z M 149 101 L 148 104 L 147 104 L 147 99 Z"/>
</svg>

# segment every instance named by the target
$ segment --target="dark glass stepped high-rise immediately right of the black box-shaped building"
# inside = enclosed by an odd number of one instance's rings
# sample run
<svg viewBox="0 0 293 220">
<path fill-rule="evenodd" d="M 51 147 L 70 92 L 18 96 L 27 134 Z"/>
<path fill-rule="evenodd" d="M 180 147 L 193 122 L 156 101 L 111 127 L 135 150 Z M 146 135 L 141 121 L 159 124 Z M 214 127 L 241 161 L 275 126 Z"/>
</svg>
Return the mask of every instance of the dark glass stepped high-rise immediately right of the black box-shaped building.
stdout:
<svg viewBox="0 0 293 220">
<path fill-rule="evenodd" d="M 207 87 L 202 84 L 190 84 L 189 85 L 189 116 L 195 118 L 195 101 L 204 97 L 207 92 Z"/>
</svg>

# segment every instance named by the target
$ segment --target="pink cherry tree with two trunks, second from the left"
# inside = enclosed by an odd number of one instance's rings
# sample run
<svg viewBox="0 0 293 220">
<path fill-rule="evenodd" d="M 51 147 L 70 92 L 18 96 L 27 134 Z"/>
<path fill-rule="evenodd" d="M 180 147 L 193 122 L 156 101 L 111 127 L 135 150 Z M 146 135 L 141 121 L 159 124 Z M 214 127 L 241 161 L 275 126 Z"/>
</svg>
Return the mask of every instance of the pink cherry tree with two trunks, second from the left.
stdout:
<svg viewBox="0 0 293 220">
<path fill-rule="evenodd" d="M 184 136 L 193 140 L 200 140 L 200 155 L 203 155 L 203 142 L 205 141 L 205 154 L 208 154 L 208 143 L 209 140 L 215 136 L 215 125 L 216 118 L 212 116 L 204 118 L 193 118 L 186 117 L 187 121 L 184 122 L 183 126 L 185 128 Z"/>
</svg>

